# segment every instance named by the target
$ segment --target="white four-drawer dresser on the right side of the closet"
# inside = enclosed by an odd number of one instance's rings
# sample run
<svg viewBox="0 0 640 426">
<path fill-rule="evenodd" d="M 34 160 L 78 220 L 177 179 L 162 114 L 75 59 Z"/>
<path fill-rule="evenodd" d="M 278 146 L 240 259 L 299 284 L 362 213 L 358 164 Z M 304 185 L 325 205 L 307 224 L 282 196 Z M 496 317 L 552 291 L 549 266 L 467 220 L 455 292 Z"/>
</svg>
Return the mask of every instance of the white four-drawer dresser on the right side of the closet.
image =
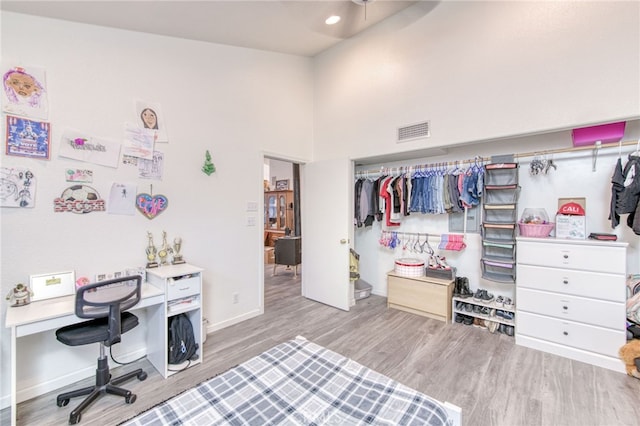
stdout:
<svg viewBox="0 0 640 426">
<path fill-rule="evenodd" d="M 516 344 L 624 373 L 627 243 L 517 239 Z"/>
</svg>

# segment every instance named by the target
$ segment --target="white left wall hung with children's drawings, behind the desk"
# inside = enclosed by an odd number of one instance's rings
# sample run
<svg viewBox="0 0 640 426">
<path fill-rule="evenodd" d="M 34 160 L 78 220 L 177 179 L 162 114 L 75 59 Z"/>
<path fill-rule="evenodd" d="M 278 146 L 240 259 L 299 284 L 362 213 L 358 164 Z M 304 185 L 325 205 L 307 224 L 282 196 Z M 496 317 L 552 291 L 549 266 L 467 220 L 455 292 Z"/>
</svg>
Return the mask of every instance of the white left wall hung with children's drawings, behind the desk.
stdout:
<svg viewBox="0 0 640 426">
<path fill-rule="evenodd" d="M 246 226 L 249 215 L 262 223 L 262 209 L 248 213 L 247 202 L 262 205 L 263 152 L 302 161 L 311 157 L 308 58 L 14 13 L 2 14 L 2 55 L 9 63 L 46 69 L 53 145 L 49 161 L 6 156 L 2 150 L 3 166 L 30 167 L 38 179 L 35 208 L 0 209 L 3 297 L 30 274 L 75 270 L 93 277 L 144 265 L 147 231 L 159 244 L 165 230 L 170 240 L 182 237 L 185 259 L 205 269 L 209 330 L 262 312 L 262 228 Z M 165 155 L 162 181 L 138 179 L 125 167 L 58 158 L 66 128 L 121 140 L 123 123 L 135 117 L 134 99 L 162 106 L 170 138 L 158 146 Z M 206 150 L 217 168 L 211 176 L 201 171 Z M 138 213 L 54 213 L 53 199 L 69 186 L 68 167 L 92 169 L 92 186 L 103 198 L 113 182 L 135 183 L 139 192 L 149 192 L 153 184 L 153 193 L 166 195 L 169 207 L 151 221 Z M 238 304 L 232 304 L 233 293 L 239 294 Z M 0 395 L 6 401 L 9 333 L 6 303 L 1 305 Z M 125 342 L 136 349 L 136 340 Z M 19 387 L 43 385 L 83 368 L 87 376 L 94 374 L 97 347 L 69 350 L 53 333 L 26 342 L 20 349 Z"/>
</svg>

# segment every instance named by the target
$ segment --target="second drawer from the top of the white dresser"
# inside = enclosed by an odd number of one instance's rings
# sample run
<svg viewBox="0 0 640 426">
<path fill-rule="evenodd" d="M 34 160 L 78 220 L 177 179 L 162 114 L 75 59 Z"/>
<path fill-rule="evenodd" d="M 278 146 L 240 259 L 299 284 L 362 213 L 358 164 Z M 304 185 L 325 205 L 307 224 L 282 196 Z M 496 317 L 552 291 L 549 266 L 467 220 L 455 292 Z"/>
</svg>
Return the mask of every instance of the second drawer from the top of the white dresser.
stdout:
<svg viewBox="0 0 640 426">
<path fill-rule="evenodd" d="M 622 274 L 518 264 L 516 276 L 518 288 L 553 291 L 612 302 L 625 302 L 627 297 L 626 281 Z"/>
</svg>

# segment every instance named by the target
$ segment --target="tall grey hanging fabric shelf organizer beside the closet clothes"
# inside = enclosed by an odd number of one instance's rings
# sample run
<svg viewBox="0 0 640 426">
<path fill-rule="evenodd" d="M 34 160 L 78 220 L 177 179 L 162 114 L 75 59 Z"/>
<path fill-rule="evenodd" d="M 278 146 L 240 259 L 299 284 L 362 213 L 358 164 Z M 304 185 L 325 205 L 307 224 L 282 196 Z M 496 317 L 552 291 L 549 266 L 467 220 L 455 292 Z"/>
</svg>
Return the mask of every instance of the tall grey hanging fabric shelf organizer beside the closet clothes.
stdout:
<svg viewBox="0 0 640 426">
<path fill-rule="evenodd" d="M 518 163 L 485 166 L 482 203 L 482 278 L 516 282 Z"/>
</svg>

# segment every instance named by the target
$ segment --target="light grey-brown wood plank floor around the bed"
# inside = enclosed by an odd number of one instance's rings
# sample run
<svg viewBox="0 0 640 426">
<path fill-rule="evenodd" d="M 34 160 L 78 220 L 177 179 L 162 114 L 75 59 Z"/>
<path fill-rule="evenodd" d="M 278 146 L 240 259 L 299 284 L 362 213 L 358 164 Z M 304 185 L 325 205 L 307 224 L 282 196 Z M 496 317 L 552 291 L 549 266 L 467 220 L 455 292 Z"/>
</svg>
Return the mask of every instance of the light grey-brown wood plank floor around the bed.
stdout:
<svg viewBox="0 0 640 426">
<path fill-rule="evenodd" d="M 505 335 L 389 310 L 386 299 L 375 295 L 350 312 L 336 310 L 301 297 L 300 277 L 278 269 L 271 277 L 272 268 L 265 268 L 265 314 L 209 334 L 203 364 L 164 380 L 142 362 L 149 378 L 124 385 L 137 401 L 103 397 L 80 424 L 118 424 L 297 335 L 462 407 L 465 426 L 640 424 L 640 380 L 519 347 Z M 66 424 L 78 401 L 58 408 L 61 391 L 19 404 L 18 424 Z M 8 410 L 1 420 L 8 424 Z"/>
</svg>

